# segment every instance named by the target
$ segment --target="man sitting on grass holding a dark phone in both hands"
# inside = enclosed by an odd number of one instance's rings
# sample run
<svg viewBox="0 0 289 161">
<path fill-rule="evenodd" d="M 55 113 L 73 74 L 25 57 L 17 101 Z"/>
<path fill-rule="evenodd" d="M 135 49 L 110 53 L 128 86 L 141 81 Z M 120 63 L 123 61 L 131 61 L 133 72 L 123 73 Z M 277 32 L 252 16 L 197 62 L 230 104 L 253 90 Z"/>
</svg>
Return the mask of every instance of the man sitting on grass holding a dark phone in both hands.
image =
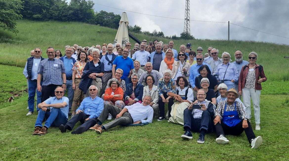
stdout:
<svg viewBox="0 0 289 161">
<path fill-rule="evenodd" d="M 205 100 L 206 92 L 199 89 L 197 92 L 197 103 L 191 103 L 184 110 L 184 135 L 183 139 L 192 139 L 192 133 L 200 132 L 198 143 L 205 142 L 205 133 L 212 132 L 212 119 L 215 115 L 214 105 L 210 101 Z"/>
</svg>

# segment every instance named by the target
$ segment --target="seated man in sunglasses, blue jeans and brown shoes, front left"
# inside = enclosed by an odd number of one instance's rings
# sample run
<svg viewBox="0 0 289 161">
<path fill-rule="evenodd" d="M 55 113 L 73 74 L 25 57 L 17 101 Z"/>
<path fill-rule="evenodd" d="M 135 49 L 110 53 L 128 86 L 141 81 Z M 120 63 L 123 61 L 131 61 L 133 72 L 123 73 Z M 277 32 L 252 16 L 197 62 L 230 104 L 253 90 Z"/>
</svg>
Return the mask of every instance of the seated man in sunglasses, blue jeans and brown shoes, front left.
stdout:
<svg viewBox="0 0 289 161">
<path fill-rule="evenodd" d="M 63 91 L 64 89 L 62 87 L 56 87 L 54 90 L 55 97 L 50 97 L 38 104 L 39 113 L 32 135 L 45 135 L 49 127 L 59 127 L 61 124 L 66 124 L 68 120 L 69 100 L 63 96 Z M 46 122 L 44 127 L 42 127 L 42 121 L 44 119 Z"/>
</svg>

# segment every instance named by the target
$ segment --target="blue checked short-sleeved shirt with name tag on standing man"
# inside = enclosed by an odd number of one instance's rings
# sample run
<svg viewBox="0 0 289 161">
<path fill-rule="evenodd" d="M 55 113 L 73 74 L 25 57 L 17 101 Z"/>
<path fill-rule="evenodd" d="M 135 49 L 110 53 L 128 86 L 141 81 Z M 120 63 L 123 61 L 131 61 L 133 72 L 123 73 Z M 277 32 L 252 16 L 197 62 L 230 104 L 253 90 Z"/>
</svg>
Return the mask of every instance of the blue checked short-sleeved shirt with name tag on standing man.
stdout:
<svg viewBox="0 0 289 161">
<path fill-rule="evenodd" d="M 43 83 L 42 85 L 62 85 L 62 73 L 65 73 L 64 64 L 59 59 L 49 58 L 40 61 L 38 66 L 37 74 L 42 74 Z"/>
</svg>

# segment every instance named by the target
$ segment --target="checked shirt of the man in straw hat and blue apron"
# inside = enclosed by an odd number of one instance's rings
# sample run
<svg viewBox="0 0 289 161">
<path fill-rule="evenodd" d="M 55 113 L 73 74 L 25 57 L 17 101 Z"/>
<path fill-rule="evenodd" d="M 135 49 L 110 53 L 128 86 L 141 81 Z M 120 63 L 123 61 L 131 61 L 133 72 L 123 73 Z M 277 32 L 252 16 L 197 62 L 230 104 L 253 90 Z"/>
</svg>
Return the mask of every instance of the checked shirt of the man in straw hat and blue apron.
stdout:
<svg viewBox="0 0 289 161">
<path fill-rule="evenodd" d="M 236 102 L 236 106 L 237 106 L 236 108 L 237 108 L 239 118 L 241 120 L 244 118 L 249 119 L 249 117 L 247 116 L 247 113 L 245 111 L 244 106 L 238 101 L 235 101 L 235 102 Z M 218 107 L 216 109 L 216 116 L 217 115 L 220 116 L 220 119 L 222 120 L 226 104 L 227 104 L 226 111 L 235 111 L 235 102 L 231 106 L 227 103 L 227 100 L 219 102 Z"/>
</svg>

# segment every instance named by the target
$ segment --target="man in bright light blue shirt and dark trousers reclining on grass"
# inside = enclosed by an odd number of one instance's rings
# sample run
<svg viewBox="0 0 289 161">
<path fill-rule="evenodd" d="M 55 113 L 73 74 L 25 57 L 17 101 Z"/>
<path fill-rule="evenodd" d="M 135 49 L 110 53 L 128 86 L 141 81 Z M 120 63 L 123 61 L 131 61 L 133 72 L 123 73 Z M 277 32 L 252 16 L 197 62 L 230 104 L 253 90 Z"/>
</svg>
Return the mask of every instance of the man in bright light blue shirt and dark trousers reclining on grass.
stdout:
<svg viewBox="0 0 289 161">
<path fill-rule="evenodd" d="M 65 133 L 67 129 L 71 131 L 78 121 L 80 121 L 82 125 L 72 131 L 72 134 L 81 134 L 96 124 L 96 121 L 88 120 L 94 120 L 99 117 L 103 110 L 103 100 L 97 96 L 98 89 L 95 85 L 91 85 L 88 89 L 90 96 L 83 99 L 76 110 L 76 115 L 66 124 L 59 126 L 62 133 Z"/>
</svg>

